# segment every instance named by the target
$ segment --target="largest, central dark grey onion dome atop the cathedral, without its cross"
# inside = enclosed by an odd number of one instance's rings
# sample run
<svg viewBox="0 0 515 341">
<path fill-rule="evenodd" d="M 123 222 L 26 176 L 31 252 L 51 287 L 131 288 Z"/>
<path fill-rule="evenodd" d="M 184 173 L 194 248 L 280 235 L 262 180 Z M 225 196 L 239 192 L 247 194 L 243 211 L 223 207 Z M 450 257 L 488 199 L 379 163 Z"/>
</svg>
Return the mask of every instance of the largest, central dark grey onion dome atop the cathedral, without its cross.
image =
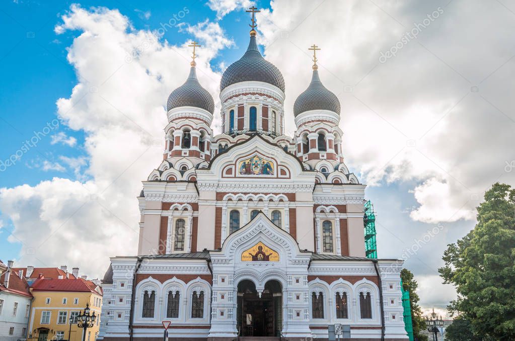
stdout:
<svg viewBox="0 0 515 341">
<path fill-rule="evenodd" d="M 281 71 L 261 56 L 255 35 L 251 35 L 245 55 L 224 71 L 220 80 L 220 91 L 231 84 L 247 81 L 272 84 L 284 92 L 284 78 Z"/>
</svg>

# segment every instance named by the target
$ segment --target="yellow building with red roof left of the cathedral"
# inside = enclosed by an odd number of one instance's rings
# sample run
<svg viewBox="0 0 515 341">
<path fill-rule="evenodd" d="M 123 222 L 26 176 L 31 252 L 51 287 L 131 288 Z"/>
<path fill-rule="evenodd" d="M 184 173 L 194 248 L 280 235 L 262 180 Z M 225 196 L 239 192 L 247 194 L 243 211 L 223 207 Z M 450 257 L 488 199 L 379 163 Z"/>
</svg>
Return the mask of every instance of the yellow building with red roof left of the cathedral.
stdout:
<svg viewBox="0 0 515 341">
<path fill-rule="evenodd" d="M 73 276 L 72 276 L 73 277 Z M 71 340 L 81 341 L 83 329 L 77 326 L 77 315 L 87 304 L 97 319 L 86 331 L 85 339 L 94 341 L 100 326 L 102 290 L 100 286 L 83 278 L 47 279 L 40 275 L 30 288 L 32 307 L 29 316 L 27 341 Z M 73 323 L 70 324 L 70 317 Z"/>
</svg>

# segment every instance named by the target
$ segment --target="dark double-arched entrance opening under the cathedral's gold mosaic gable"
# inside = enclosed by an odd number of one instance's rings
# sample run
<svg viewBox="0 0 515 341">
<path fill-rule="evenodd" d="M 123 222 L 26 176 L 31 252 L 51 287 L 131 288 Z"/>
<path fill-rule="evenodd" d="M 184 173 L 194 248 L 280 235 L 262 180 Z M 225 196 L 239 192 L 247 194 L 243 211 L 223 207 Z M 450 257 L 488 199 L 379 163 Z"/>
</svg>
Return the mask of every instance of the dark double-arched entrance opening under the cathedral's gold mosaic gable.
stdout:
<svg viewBox="0 0 515 341">
<path fill-rule="evenodd" d="M 266 282 L 261 297 L 252 281 L 238 283 L 237 328 L 241 336 L 281 336 L 282 288 L 276 280 Z"/>
</svg>

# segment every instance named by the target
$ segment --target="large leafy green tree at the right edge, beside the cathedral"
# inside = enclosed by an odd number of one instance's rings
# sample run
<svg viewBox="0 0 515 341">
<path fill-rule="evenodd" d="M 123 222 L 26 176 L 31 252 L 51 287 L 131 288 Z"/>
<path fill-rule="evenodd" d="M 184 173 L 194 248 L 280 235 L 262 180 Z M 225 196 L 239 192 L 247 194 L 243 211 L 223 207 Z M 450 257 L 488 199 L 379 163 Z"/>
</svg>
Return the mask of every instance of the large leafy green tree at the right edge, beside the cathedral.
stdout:
<svg viewBox="0 0 515 341">
<path fill-rule="evenodd" d="M 451 314 L 484 339 L 515 339 L 515 190 L 496 183 L 477 207 L 477 224 L 443 254 L 438 271 L 454 284 Z"/>
</svg>

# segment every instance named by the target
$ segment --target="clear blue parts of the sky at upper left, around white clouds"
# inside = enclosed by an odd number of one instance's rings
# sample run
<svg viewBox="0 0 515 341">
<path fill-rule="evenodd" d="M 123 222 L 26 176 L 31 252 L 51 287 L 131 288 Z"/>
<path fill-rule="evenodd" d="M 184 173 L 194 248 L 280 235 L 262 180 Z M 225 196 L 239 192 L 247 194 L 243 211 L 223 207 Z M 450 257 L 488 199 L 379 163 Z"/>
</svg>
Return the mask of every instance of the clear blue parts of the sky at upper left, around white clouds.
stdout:
<svg viewBox="0 0 515 341">
<path fill-rule="evenodd" d="M 70 96 L 71 88 L 77 82 L 74 68 L 66 60 L 66 48 L 70 46 L 78 31 L 57 34 L 54 27 L 61 24 L 60 16 L 76 2 L 50 1 L 41 3 L 32 0 L 3 2 L 0 7 L 0 29 L 5 32 L 4 43 L 0 46 L 0 70 L 3 81 L 0 84 L 0 160 L 9 159 L 27 139 L 41 131 L 48 122 L 56 119 L 56 100 Z M 264 7 L 266 2 L 257 2 Z M 216 20 L 216 12 L 205 2 L 136 2 L 136 1 L 81 1 L 81 7 L 117 8 L 129 17 L 136 30 L 157 30 L 161 23 L 167 23 L 174 14 L 184 8 L 188 13 L 177 23 L 191 25 L 205 19 Z M 223 49 L 211 63 L 216 69 L 222 61 L 234 61 L 241 55 L 239 47 L 248 44 L 248 29 L 240 22 L 248 21 L 243 10 L 233 11 L 221 20 L 220 26 L 228 37 L 236 43 L 232 48 Z M 167 30 L 162 39 L 170 44 L 182 44 L 193 39 L 191 34 L 179 27 Z M 163 105 L 165 101 L 163 100 Z M 64 132 L 76 138 L 73 148 L 63 143 L 51 144 L 50 135 Z M 84 142 L 83 131 L 74 131 L 61 124 L 51 134 L 37 142 L 38 148 L 30 149 L 15 165 L 0 173 L 0 187 L 14 187 L 21 184 L 36 185 L 54 176 L 75 179 L 71 170 L 47 170 L 42 163 L 55 161 L 60 155 L 67 157 L 84 156 L 81 148 Z M 87 167 L 87 166 L 85 166 Z M 0 259 L 18 256 L 21 245 L 10 243 L 7 237 L 13 227 L 9 221 L 0 230 Z"/>
</svg>

